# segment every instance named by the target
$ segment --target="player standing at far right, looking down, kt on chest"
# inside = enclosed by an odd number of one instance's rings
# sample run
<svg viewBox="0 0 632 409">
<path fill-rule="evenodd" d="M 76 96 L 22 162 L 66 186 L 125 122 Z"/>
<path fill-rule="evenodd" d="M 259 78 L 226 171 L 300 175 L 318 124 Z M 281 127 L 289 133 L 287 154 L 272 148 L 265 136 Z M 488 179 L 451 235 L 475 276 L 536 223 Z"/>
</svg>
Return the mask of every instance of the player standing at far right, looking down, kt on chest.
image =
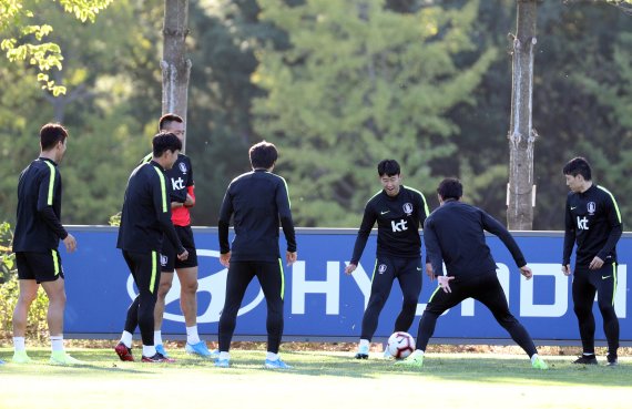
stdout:
<svg viewBox="0 0 632 409">
<path fill-rule="evenodd" d="M 577 243 L 572 294 L 583 348 L 582 356 L 573 364 L 597 365 L 592 314 L 597 293 L 608 340 L 608 365 L 615 366 L 619 349 L 619 319 L 614 311 L 616 242 L 623 226 L 614 196 L 593 184 L 591 173 L 590 164 L 583 157 L 575 157 L 563 167 L 571 192 L 567 196 L 562 272 L 571 275 L 571 253 Z"/>
</svg>

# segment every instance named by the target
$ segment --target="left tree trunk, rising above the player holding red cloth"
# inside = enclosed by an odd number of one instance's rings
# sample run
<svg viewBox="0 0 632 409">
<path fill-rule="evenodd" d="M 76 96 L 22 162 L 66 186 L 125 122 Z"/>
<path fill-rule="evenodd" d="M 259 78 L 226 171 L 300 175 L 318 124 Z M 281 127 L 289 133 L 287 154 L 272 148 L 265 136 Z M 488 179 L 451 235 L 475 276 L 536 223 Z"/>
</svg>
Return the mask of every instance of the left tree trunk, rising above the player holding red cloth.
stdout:
<svg viewBox="0 0 632 409">
<path fill-rule="evenodd" d="M 164 1 L 162 113 L 175 113 L 184 120 L 186 129 L 186 105 L 191 60 L 185 58 L 185 41 L 188 34 L 188 0 Z M 182 150 L 186 146 L 184 134 Z"/>
</svg>

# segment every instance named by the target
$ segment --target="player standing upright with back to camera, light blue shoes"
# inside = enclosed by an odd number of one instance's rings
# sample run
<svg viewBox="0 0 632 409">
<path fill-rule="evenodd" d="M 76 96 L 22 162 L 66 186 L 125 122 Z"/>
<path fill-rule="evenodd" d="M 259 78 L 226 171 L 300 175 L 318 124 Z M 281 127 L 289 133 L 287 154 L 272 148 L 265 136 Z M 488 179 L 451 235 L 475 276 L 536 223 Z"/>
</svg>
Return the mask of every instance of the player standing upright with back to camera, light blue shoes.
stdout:
<svg viewBox="0 0 632 409">
<path fill-rule="evenodd" d="M 267 355 L 264 366 L 287 369 L 278 347 L 283 336 L 283 298 L 285 278 L 278 249 L 279 221 L 287 242 L 285 260 L 296 262 L 296 237 L 289 211 L 285 180 L 274 173 L 276 146 L 259 142 L 249 150 L 252 172 L 234 178 L 220 209 L 220 262 L 228 268 L 226 299 L 220 318 L 220 357 L 217 367 L 230 366 L 230 347 L 237 311 L 248 284 L 256 276 L 267 304 Z M 233 217 L 235 238 L 228 243 L 228 225 Z"/>
</svg>

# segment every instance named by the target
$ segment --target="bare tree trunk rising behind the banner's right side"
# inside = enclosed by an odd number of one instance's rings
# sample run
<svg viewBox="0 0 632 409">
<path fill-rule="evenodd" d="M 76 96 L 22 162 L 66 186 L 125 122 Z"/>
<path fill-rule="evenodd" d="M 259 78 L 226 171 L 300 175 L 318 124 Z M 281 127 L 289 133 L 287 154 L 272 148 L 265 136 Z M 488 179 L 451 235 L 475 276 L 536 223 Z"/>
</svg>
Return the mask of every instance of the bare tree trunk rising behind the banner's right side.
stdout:
<svg viewBox="0 0 632 409">
<path fill-rule="evenodd" d="M 536 45 L 537 0 L 518 0 L 518 32 L 513 39 L 513 79 L 509 129 L 509 186 L 507 224 L 512 231 L 533 226 L 532 129 L 533 54 Z"/>
</svg>

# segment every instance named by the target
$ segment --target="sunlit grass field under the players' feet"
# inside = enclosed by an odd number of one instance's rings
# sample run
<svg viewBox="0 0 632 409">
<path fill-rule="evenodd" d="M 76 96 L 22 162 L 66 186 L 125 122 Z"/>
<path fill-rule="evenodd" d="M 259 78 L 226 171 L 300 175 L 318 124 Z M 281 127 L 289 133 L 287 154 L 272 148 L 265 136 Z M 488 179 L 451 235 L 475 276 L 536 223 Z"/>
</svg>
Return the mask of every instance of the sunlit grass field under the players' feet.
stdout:
<svg viewBox="0 0 632 409">
<path fill-rule="evenodd" d="M 136 349 L 137 351 L 137 349 Z M 294 369 L 262 368 L 264 352 L 236 350 L 232 367 L 183 352 L 176 364 L 121 362 L 112 349 L 70 349 L 89 364 L 48 365 L 49 349 L 30 350 L 32 365 L 0 366 L 0 408 L 625 408 L 631 407 L 632 358 L 619 367 L 544 359 L 548 371 L 526 356 L 429 354 L 421 369 L 395 367 L 371 354 L 283 352 Z M 0 348 L 8 360 L 10 348 Z M 601 359 L 603 361 L 603 359 Z"/>
</svg>

